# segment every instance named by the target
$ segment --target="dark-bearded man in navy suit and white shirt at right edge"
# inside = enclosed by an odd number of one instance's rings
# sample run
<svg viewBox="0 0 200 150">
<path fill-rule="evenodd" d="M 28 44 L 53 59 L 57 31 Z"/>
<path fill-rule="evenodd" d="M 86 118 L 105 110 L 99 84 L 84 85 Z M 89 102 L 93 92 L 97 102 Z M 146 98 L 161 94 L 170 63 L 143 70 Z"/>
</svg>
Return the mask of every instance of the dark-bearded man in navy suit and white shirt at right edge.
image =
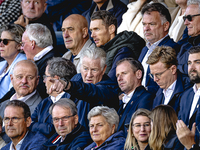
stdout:
<svg viewBox="0 0 200 150">
<path fill-rule="evenodd" d="M 194 46 L 189 50 L 188 75 L 194 86 L 183 92 L 180 97 L 178 118 L 191 128 L 200 104 L 200 46 Z"/>
</svg>

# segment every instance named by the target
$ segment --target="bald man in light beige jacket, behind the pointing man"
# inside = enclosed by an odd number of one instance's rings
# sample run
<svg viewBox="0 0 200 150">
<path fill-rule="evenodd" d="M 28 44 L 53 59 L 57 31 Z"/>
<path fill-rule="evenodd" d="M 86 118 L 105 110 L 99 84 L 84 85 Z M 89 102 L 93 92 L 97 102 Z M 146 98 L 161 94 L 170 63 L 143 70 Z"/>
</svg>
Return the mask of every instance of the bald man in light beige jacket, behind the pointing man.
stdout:
<svg viewBox="0 0 200 150">
<path fill-rule="evenodd" d="M 69 49 L 63 57 L 71 60 L 80 73 L 80 55 L 87 48 L 95 47 L 89 39 L 88 23 L 85 17 L 79 14 L 68 16 L 62 24 L 62 33 L 65 47 Z"/>
</svg>

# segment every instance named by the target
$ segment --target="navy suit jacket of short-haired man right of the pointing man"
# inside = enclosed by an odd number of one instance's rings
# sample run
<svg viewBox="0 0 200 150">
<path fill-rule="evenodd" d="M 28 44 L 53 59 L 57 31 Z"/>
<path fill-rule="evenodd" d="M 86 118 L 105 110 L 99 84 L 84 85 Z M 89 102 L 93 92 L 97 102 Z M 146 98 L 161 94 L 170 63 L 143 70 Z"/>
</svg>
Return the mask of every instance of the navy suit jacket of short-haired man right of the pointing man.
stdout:
<svg viewBox="0 0 200 150">
<path fill-rule="evenodd" d="M 137 87 L 126 107 L 123 109 L 123 104 L 120 106 L 118 111 L 120 121 L 117 130 L 123 130 L 125 135 L 127 135 L 125 124 L 129 124 L 132 114 L 137 109 L 145 108 L 151 110 L 154 96 L 155 95 L 148 92 L 143 86 Z"/>
</svg>

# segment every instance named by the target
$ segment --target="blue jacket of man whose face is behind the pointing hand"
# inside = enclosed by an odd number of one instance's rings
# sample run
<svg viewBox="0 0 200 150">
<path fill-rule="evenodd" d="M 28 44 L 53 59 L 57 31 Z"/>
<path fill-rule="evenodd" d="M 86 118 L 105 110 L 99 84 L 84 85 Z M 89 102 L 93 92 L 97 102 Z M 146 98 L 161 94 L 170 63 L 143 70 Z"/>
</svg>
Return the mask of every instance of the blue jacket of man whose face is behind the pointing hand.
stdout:
<svg viewBox="0 0 200 150">
<path fill-rule="evenodd" d="M 68 93 L 65 93 L 61 98 L 66 97 L 69 97 Z M 52 104 L 53 102 L 50 97 L 42 100 L 31 115 L 32 123 L 29 127 L 31 131 L 39 131 L 47 138 L 51 137 L 56 132 L 52 124 L 52 116 L 49 113 L 49 108 Z"/>
</svg>

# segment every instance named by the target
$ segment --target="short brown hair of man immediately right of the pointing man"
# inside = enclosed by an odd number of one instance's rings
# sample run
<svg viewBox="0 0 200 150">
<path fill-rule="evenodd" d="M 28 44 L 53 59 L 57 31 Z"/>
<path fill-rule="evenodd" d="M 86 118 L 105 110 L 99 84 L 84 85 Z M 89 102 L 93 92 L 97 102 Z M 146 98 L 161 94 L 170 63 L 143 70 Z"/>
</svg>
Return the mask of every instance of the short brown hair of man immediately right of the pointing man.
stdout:
<svg viewBox="0 0 200 150">
<path fill-rule="evenodd" d="M 124 61 L 127 61 L 130 63 L 131 67 L 132 67 L 132 70 L 133 72 L 135 73 L 136 71 L 138 70 L 141 70 L 142 71 L 142 77 L 141 77 L 141 80 L 143 79 L 143 76 L 144 76 L 144 68 L 141 64 L 141 62 L 139 62 L 138 60 L 135 60 L 133 58 L 123 58 L 121 60 L 119 60 L 117 63 L 116 63 L 116 66 L 120 65 L 122 62 Z"/>
</svg>

